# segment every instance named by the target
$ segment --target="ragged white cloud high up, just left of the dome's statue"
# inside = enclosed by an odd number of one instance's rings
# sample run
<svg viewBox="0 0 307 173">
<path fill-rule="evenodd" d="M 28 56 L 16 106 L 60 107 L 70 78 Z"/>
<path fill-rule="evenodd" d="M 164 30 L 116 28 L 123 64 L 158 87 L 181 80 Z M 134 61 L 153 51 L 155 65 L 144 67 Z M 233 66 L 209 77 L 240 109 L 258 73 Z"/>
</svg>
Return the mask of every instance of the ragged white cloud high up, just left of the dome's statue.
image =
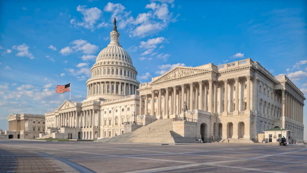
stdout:
<svg viewBox="0 0 307 173">
<path fill-rule="evenodd" d="M 70 23 L 75 26 L 83 26 L 84 28 L 94 31 L 94 25 L 99 20 L 102 11 L 97 7 L 86 8 L 87 6 L 77 6 L 77 11 L 83 15 L 82 22 L 76 22 L 75 19 L 70 20 Z"/>
</svg>

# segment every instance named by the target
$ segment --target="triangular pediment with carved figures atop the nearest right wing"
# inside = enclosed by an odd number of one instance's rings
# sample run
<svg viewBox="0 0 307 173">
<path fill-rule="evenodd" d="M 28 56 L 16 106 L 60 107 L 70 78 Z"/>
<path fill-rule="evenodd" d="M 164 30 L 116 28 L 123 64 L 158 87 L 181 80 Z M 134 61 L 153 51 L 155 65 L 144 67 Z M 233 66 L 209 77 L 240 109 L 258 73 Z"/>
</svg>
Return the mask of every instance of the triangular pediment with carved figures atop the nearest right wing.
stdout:
<svg viewBox="0 0 307 173">
<path fill-rule="evenodd" d="M 180 79 L 180 78 L 186 78 L 190 76 L 196 76 L 200 74 L 204 74 L 210 70 L 208 69 L 199 69 L 199 68 L 193 68 L 193 67 L 175 67 L 172 70 L 169 70 L 165 74 L 161 75 L 159 78 L 155 79 L 153 82 L 150 83 L 156 84 L 161 82 L 167 82 L 174 79 Z"/>
</svg>

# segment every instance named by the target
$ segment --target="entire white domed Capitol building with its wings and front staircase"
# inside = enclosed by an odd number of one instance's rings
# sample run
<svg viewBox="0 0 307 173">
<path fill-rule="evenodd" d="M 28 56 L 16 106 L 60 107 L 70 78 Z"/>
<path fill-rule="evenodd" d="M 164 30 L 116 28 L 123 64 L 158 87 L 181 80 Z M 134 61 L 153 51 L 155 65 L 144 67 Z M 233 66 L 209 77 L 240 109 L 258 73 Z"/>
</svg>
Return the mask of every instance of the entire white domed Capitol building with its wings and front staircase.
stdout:
<svg viewBox="0 0 307 173">
<path fill-rule="evenodd" d="M 140 84 L 116 25 L 110 36 L 91 68 L 86 99 L 66 100 L 46 113 L 41 138 L 255 142 L 258 134 L 278 126 L 288 130 L 287 139 L 303 139 L 305 97 L 286 75 L 273 76 L 247 58 L 218 66 L 177 66 Z M 8 133 L 21 138 L 35 126 L 22 121 L 14 129 L 12 122 L 20 118 L 8 120 Z"/>
</svg>

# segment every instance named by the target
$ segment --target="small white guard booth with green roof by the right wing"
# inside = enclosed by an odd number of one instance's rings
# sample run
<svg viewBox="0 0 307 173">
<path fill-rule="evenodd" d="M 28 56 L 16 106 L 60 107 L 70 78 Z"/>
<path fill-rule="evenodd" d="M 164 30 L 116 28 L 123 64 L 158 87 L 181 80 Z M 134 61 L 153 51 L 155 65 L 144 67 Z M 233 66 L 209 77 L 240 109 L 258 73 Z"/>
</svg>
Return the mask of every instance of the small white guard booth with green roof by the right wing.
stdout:
<svg viewBox="0 0 307 173">
<path fill-rule="evenodd" d="M 276 143 L 278 142 L 278 139 L 281 139 L 284 136 L 286 142 L 289 143 L 289 132 L 292 131 L 283 129 L 282 127 L 274 127 L 273 129 L 268 129 L 263 132 L 264 138 L 268 139 L 268 142 Z"/>
</svg>

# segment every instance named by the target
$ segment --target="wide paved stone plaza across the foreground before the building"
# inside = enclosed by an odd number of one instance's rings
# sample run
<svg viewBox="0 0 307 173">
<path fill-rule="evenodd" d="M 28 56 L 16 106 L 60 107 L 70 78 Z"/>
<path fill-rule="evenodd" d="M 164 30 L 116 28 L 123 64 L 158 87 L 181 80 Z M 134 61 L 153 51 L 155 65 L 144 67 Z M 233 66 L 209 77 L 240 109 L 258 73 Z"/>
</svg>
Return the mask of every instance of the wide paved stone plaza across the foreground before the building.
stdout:
<svg viewBox="0 0 307 173">
<path fill-rule="evenodd" d="M 0 141 L 0 172 L 305 172 L 306 145 Z"/>
</svg>

